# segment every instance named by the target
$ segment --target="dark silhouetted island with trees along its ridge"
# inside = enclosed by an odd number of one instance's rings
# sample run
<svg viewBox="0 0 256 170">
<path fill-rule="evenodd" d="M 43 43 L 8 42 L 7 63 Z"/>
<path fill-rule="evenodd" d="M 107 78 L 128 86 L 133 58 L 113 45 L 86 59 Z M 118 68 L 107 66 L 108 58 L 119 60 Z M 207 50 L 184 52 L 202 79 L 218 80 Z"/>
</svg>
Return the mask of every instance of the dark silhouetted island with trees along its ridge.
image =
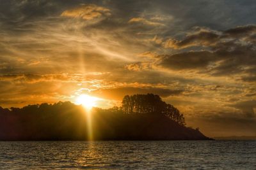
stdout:
<svg viewBox="0 0 256 170">
<path fill-rule="evenodd" d="M 207 140 L 179 110 L 154 94 L 125 96 L 108 110 L 70 102 L 0 107 L 0 140 Z M 89 118 L 90 117 L 90 118 Z"/>
</svg>

